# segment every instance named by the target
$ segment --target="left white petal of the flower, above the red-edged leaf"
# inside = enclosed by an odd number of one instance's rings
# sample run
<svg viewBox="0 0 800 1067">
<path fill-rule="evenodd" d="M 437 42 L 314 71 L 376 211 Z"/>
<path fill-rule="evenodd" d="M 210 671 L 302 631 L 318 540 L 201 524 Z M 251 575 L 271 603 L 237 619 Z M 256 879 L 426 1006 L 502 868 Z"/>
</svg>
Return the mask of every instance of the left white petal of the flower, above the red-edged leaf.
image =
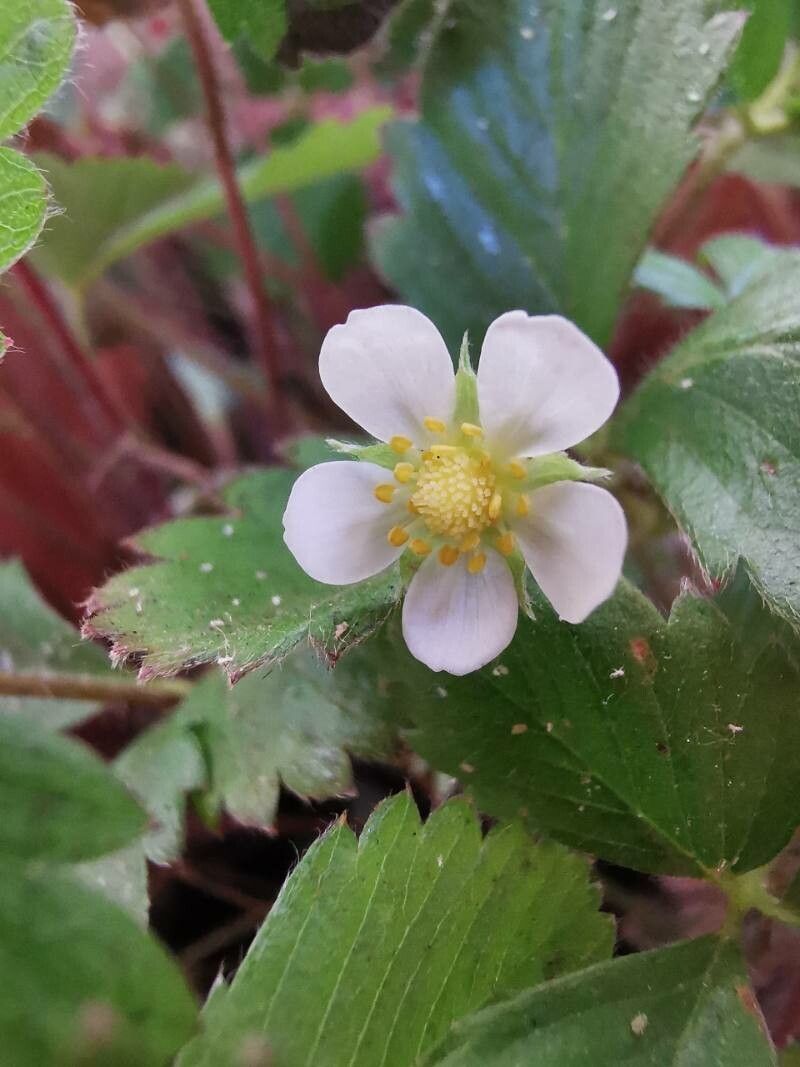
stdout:
<svg viewBox="0 0 800 1067">
<path fill-rule="evenodd" d="M 375 463 L 340 460 L 309 467 L 292 485 L 284 541 L 317 582 L 348 586 L 369 578 L 402 553 L 386 540 L 402 521 L 400 505 L 381 504 L 374 488 L 390 481 Z"/>
</svg>

